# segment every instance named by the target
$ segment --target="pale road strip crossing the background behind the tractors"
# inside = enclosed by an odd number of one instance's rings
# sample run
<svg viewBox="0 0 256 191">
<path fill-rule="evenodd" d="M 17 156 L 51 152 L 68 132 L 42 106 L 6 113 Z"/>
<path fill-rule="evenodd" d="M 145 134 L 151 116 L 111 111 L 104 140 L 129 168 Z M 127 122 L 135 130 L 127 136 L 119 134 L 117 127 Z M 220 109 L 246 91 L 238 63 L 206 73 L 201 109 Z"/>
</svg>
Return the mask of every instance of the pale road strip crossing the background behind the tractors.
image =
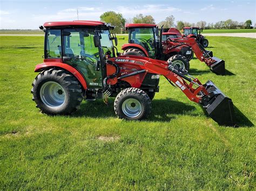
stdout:
<svg viewBox="0 0 256 191">
<path fill-rule="evenodd" d="M 127 35 L 127 34 L 117 34 Z M 256 33 L 206 33 L 205 36 L 224 36 L 224 37 L 247 37 L 256 38 Z M 44 36 L 44 34 L 0 34 L 0 36 Z"/>
</svg>

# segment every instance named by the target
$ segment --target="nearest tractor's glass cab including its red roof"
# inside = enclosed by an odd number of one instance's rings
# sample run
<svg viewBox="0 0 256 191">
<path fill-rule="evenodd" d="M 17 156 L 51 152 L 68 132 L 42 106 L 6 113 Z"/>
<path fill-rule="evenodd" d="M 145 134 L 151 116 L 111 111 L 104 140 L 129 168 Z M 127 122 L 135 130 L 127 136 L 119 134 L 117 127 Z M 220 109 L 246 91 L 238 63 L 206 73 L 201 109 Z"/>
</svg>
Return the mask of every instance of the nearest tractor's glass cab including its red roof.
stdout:
<svg viewBox="0 0 256 191">
<path fill-rule="evenodd" d="M 44 27 L 44 61 L 66 63 L 83 75 L 89 88 L 102 88 L 103 59 L 116 56 L 112 27 L 80 20 L 45 23 Z"/>
</svg>

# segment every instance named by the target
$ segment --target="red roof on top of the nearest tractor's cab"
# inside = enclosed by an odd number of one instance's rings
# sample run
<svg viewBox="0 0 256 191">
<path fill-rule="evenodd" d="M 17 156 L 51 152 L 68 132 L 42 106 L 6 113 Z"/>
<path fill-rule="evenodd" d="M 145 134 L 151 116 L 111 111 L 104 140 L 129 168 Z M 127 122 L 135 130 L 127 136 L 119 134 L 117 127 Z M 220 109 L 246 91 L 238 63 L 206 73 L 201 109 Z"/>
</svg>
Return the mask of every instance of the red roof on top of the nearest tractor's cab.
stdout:
<svg viewBox="0 0 256 191">
<path fill-rule="evenodd" d="M 59 21 L 59 22 L 46 22 L 44 23 L 44 27 L 61 27 L 61 26 L 105 26 L 108 27 L 110 25 L 105 24 L 99 21 L 92 20 L 73 20 L 73 21 Z"/>
</svg>

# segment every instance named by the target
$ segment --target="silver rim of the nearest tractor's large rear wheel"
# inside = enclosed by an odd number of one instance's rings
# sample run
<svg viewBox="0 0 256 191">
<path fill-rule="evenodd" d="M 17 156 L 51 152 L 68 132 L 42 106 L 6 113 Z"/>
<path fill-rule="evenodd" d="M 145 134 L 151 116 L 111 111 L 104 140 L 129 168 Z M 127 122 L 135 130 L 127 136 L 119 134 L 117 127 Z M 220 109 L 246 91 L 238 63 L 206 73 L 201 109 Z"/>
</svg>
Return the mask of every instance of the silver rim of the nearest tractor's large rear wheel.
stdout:
<svg viewBox="0 0 256 191">
<path fill-rule="evenodd" d="M 66 100 L 66 94 L 62 86 L 57 82 L 46 82 L 40 89 L 42 102 L 49 108 L 59 108 Z"/>
</svg>

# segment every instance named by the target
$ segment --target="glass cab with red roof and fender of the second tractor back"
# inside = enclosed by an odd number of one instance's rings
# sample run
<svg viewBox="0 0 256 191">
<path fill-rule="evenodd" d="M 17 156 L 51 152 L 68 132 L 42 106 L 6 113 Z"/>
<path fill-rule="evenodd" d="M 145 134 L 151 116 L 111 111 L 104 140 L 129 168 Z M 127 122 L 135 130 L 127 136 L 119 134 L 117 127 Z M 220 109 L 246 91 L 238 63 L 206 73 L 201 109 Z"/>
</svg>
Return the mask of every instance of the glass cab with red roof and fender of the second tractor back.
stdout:
<svg viewBox="0 0 256 191">
<path fill-rule="evenodd" d="M 137 47 L 143 54 L 150 58 L 159 58 L 161 53 L 161 29 L 154 24 L 126 24 L 129 30 L 129 44 L 124 44 L 122 49 Z"/>
</svg>

